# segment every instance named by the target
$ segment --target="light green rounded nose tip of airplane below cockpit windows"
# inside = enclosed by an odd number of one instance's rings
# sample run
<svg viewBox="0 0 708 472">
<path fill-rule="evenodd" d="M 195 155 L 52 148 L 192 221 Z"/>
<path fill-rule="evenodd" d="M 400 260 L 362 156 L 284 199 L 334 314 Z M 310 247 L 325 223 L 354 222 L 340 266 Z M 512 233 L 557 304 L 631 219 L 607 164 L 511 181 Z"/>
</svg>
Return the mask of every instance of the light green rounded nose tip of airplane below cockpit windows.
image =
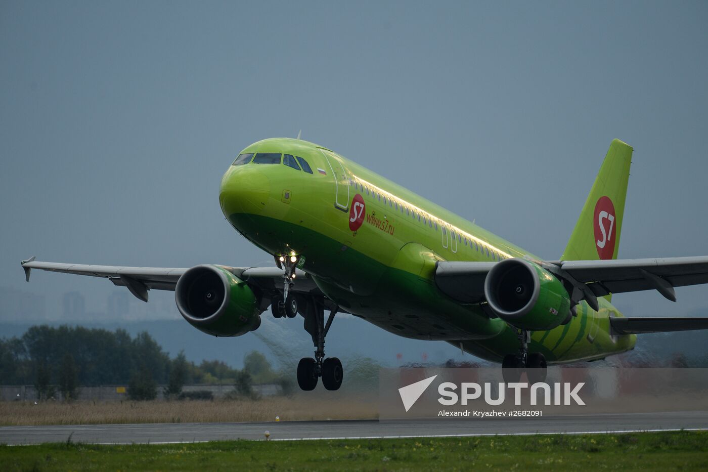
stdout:
<svg viewBox="0 0 708 472">
<path fill-rule="evenodd" d="M 226 218 L 259 215 L 270 198 L 270 181 L 255 165 L 232 166 L 222 178 L 219 203 Z"/>
</svg>

